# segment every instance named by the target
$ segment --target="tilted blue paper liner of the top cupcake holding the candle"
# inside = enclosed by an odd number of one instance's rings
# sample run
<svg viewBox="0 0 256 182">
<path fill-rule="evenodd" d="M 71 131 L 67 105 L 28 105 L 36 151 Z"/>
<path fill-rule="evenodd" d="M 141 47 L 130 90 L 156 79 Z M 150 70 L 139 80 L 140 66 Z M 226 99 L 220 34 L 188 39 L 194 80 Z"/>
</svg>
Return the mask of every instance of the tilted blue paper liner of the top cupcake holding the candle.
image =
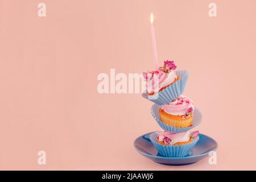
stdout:
<svg viewBox="0 0 256 182">
<path fill-rule="evenodd" d="M 147 93 L 143 93 L 142 97 L 154 102 L 157 105 L 168 104 L 169 102 L 175 100 L 175 98 L 183 94 L 189 76 L 189 73 L 186 70 L 176 71 L 176 74 L 179 76 L 179 80 L 175 81 L 174 84 L 168 86 L 159 93 L 156 93 L 154 96 L 148 96 Z"/>
</svg>

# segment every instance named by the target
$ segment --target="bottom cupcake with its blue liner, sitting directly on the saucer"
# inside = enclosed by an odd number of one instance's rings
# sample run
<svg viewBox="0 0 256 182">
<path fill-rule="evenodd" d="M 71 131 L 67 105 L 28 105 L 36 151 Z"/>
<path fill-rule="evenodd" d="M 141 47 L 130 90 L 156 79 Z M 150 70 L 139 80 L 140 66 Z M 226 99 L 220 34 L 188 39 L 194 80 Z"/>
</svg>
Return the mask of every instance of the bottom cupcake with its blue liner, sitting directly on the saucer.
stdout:
<svg viewBox="0 0 256 182">
<path fill-rule="evenodd" d="M 199 140 L 199 131 L 169 133 L 157 131 L 150 134 L 150 140 L 159 154 L 166 157 L 184 157 L 189 154 Z"/>
</svg>

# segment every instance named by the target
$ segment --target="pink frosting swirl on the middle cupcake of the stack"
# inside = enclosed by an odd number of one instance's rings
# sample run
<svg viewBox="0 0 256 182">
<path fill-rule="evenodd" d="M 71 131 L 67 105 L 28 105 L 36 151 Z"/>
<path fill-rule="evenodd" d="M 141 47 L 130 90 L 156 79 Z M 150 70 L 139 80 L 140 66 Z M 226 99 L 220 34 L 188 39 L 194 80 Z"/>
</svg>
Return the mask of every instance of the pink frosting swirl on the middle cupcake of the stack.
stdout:
<svg viewBox="0 0 256 182">
<path fill-rule="evenodd" d="M 169 104 L 163 105 L 161 109 L 172 115 L 185 115 L 187 113 L 192 113 L 194 106 L 190 98 L 180 96 Z"/>
</svg>

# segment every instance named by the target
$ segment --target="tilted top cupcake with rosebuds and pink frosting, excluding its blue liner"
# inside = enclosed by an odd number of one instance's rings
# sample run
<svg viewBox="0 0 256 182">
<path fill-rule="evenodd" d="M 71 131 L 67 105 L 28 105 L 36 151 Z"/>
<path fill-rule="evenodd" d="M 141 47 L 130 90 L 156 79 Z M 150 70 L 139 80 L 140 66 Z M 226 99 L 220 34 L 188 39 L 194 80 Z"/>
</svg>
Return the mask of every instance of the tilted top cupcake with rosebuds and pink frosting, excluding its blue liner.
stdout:
<svg viewBox="0 0 256 182">
<path fill-rule="evenodd" d="M 166 60 L 163 67 L 159 67 L 158 70 L 143 73 L 143 78 L 147 81 L 147 94 L 152 96 L 179 80 L 175 72 L 176 68 L 174 61 Z"/>
</svg>

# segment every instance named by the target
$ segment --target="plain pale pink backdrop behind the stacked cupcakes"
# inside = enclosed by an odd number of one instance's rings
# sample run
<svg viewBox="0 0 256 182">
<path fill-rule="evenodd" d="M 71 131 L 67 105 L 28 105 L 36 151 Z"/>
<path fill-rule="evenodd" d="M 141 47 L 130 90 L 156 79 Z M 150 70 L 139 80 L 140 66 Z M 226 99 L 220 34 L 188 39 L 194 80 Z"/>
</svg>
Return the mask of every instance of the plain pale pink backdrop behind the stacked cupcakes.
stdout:
<svg viewBox="0 0 256 182">
<path fill-rule="evenodd" d="M 0 0 L 0 169 L 256 169 L 255 7 L 254 0 Z M 144 158 L 133 141 L 159 130 L 151 102 L 97 92 L 97 75 L 110 68 L 154 69 L 151 12 L 161 64 L 173 59 L 190 72 L 184 94 L 203 113 L 201 133 L 219 144 L 217 165 Z M 40 150 L 46 166 L 37 162 Z"/>
</svg>

